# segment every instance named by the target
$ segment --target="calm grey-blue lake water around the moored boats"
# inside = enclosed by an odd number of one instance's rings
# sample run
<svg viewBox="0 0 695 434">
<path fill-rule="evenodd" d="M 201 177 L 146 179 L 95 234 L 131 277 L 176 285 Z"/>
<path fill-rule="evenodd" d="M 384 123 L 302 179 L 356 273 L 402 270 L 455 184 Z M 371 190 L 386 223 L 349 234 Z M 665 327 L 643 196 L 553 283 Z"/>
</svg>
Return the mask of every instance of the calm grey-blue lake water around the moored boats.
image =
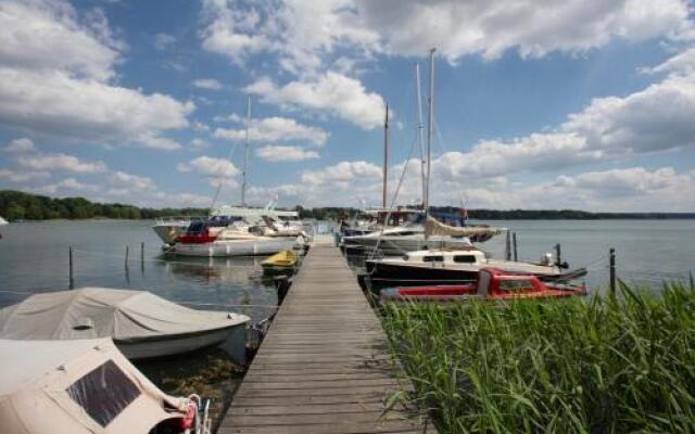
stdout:
<svg viewBox="0 0 695 434">
<path fill-rule="evenodd" d="M 486 221 L 517 232 L 520 259 L 538 260 L 563 247 L 571 268 L 587 267 L 586 284 L 608 280 L 608 250 L 615 247 L 618 276 L 658 291 L 667 279 L 687 279 L 695 270 L 694 220 L 516 220 Z M 30 293 L 68 288 L 68 246 L 74 246 L 75 286 L 144 289 L 201 309 L 233 310 L 254 320 L 276 305 L 271 282 L 258 278 L 263 258 L 165 258 L 151 221 L 86 220 L 20 222 L 0 228 L 0 307 Z M 140 260 L 140 243 L 144 260 Z M 480 246 L 504 255 L 504 237 Z M 125 251 L 129 246 L 126 270 Z M 169 393 L 194 390 L 226 406 L 240 375 L 219 350 L 174 360 L 138 363 Z"/>
</svg>

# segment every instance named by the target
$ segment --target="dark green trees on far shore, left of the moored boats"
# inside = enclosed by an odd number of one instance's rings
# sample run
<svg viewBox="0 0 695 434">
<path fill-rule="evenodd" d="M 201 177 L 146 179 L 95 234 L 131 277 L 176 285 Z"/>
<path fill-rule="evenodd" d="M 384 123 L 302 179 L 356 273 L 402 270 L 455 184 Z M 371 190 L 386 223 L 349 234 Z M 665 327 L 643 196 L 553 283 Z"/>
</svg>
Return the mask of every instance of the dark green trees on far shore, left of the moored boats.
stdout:
<svg viewBox="0 0 695 434">
<path fill-rule="evenodd" d="M 132 205 L 92 203 L 84 197 L 56 199 L 21 191 L 0 191 L 0 216 L 9 220 L 94 217 L 139 219 L 187 215 L 207 215 L 207 209 L 138 208 Z"/>
</svg>

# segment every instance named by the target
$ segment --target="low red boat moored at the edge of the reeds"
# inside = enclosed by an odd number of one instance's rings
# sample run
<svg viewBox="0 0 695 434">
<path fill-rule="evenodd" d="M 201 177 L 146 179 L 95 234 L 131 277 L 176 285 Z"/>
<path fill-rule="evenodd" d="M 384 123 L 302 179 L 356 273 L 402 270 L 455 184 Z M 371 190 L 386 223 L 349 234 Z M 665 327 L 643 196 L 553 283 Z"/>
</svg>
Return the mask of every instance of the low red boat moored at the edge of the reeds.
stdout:
<svg viewBox="0 0 695 434">
<path fill-rule="evenodd" d="M 585 295 L 584 285 L 543 282 L 536 276 L 483 268 L 475 282 L 459 285 L 389 288 L 381 302 L 465 302 L 472 299 L 559 298 Z"/>
</svg>

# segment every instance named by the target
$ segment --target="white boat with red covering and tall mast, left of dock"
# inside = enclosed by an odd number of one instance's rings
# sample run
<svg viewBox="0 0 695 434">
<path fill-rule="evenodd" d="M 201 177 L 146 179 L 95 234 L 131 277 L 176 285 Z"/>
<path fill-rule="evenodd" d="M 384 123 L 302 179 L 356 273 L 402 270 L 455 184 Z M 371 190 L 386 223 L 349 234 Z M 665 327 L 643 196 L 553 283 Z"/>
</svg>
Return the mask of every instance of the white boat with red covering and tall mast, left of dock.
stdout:
<svg viewBox="0 0 695 434">
<path fill-rule="evenodd" d="M 256 212 L 247 207 L 247 168 L 249 165 L 249 126 L 251 97 L 247 103 L 247 140 L 244 144 L 241 183 L 241 206 L 223 207 L 208 219 L 192 221 L 185 233 L 176 237 L 167 250 L 182 256 L 249 256 L 271 255 L 286 250 L 303 247 L 308 235 L 301 229 L 294 215 L 285 221 L 270 209 Z M 277 220 L 274 219 L 277 218 Z"/>
</svg>

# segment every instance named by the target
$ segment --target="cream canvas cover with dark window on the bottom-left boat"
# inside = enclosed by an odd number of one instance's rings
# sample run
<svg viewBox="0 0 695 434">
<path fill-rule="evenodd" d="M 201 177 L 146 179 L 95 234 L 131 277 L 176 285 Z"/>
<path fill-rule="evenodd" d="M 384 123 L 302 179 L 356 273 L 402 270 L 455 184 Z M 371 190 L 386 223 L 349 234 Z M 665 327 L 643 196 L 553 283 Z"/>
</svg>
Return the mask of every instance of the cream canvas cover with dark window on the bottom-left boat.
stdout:
<svg viewBox="0 0 695 434">
<path fill-rule="evenodd" d="M 180 418 L 165 395 L 110 339 L 0 340 L 0 432 L 148 433 Z"/>
</svg>

